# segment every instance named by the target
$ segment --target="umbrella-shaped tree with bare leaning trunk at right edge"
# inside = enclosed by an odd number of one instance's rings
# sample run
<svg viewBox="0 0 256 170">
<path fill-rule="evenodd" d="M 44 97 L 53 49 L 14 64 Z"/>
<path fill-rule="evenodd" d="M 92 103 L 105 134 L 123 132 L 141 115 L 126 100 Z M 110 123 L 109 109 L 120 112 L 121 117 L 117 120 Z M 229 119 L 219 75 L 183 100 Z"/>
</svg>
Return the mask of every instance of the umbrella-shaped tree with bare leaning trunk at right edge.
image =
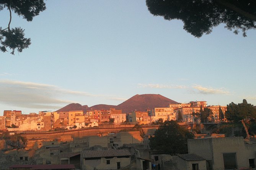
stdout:
<svg viewBox="0 0 256 170">
<path fill-rule="evenodd" d="M 243 103 L 230 103 L 227 105 L 227 111 L 225 112 L 227 120 L 232 122 L 241 122 L 245 128 L 246 139 L 249 139 L 248 128 L 245 123 L 250 120 L 256 119 L 256 109 L 252 104 L 248 104 L 246 99 L 243 99 Z"/>
</svg>

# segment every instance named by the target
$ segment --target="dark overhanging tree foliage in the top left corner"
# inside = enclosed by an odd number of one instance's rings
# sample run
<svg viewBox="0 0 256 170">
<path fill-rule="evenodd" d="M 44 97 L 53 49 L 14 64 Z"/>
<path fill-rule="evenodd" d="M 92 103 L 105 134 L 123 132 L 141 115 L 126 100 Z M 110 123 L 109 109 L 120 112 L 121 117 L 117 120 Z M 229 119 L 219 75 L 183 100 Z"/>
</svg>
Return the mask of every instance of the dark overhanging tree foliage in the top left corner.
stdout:
<svg viewBox="0 0 256 170">
<path fill-rule="evenodd" d="M 46 9 L 46 4 L 44 0 L 1 0 L 0 11 L 4 8 L 7 8 L 10 13 L 10 21 L 5 29 L 0 27 L 0 50 L 6 52 L 10 48 L 12 55 L 14 55 L 15 49 L 21 53 L 23 49 L 28 48 L 31 40 L 24 37 L 24 29 L 10 27 L 11 11 L 27 21 L 32 21 L 35 16 Z"/>
</svg>

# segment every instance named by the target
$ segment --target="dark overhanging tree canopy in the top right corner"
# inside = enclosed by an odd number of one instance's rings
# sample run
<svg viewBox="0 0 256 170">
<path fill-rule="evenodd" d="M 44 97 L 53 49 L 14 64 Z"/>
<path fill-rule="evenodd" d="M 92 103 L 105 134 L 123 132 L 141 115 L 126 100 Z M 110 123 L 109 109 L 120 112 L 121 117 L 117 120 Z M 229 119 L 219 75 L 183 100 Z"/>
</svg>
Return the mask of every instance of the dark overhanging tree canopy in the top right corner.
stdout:
<svg viewBox="0 0 256 170">
<path fill-rule="evenodd" d="M 183 29 L 202 37 L 212 28 L 225 24 L 225 28 L 246 37 L 246 31 L 256 29 L 256 3 L 252 0 L 146 0 L 150 13 L 166 20 L 183 21 Z"/>
</svg>

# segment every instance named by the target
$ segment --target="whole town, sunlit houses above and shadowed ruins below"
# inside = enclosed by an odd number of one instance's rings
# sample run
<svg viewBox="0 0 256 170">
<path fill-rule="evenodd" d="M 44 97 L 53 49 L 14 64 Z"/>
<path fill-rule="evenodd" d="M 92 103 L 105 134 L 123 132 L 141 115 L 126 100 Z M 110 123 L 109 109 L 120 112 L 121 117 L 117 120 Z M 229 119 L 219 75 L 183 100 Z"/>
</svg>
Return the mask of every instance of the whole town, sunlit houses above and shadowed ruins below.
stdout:
<svg viewBox="0 0 256 170">
<path fill-rule="evenodd" d="M 38 114 L 5 110 L 0 116 L 0 165 L 2 169 L 253 169 L 253 136 L 244 140 L 215 133 L 219 125 L 229 123 L 227 107 L 191 101 L 129 113 L 115 108 Z M 210 113 L 205 121 L 198 116 L 202 110 Z M 185 153 L 152 149 L 152 136 L 166 122 L 177 122 L 193 133 Z"/>
</svg>

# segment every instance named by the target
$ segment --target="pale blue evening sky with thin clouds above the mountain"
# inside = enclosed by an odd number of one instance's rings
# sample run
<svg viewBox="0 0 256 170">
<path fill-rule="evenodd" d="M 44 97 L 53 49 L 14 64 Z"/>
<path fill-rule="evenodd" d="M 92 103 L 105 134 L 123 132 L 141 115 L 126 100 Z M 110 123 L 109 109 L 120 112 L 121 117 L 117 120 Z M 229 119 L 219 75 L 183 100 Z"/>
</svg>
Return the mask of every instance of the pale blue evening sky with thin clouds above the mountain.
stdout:
<svg viewBox="0 0 256 170">
<path fill-rule="evenodd" d="M 145 0 L 48 0 L 46 8 L 32 22 L 12 13 L 10 26 L 25 29 L 31 45 L 0 52 L 0 115 L 118 105 L 136 94 L 256 105 L 256 30 L 243 37 L 222 24 L 195 38 L 182 21 L 150 14 Z M 7 27 L 7 8 L 0 16 Z"/>
</svg>

